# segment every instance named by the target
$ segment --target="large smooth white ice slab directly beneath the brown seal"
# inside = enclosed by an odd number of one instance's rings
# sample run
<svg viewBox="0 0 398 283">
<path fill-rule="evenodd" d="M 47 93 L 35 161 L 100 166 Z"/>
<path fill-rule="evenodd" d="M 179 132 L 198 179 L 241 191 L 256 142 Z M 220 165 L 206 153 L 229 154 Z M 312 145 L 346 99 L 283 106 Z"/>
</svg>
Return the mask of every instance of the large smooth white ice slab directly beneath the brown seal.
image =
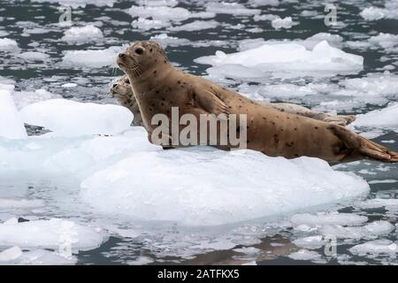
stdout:
<svg viewBox="0 0 398 283">
<path fill-rule="evenodd" d="M 96 172 L 81 188 L 83 199 L 103 213 L 188 226 L 272 217 L 369 189 L 364 180 L 333 172 L 316 158 L 216 149 L 135 153 Z"/>
</svg>

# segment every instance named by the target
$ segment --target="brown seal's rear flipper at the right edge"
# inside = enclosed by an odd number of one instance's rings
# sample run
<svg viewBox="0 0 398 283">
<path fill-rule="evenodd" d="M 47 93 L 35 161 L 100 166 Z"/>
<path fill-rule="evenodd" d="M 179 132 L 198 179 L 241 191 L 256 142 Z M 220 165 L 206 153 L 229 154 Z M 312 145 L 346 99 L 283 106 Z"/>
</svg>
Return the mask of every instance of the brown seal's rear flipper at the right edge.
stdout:
<svg viewBox="0 0 398 283">
<path fill-rule="evenodd" d="M 341 161 L 349 161 L 349 159 L 359 157 L 389 163 L 398 162 L 398 152 L 387 149 L 376 142 L 371 142 L 342 126 L 331 126 L 330 128 L 347 147 L 347 155 Z"/>
</svg>

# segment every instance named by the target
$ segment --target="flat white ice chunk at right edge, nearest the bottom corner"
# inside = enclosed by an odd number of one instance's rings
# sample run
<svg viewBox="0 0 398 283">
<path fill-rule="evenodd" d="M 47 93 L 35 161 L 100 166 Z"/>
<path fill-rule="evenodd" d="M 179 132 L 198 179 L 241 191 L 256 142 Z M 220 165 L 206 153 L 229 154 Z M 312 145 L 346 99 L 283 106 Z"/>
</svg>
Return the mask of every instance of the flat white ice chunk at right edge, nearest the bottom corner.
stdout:
<svg viewBox="0 0 398 283">
<path fill-rule="evenodd" d="M 356 245 L 350 248 L 349 251 L 357 256 L 396 255 L 398 253 L 398 245 L 390 240 L 375 240 Z"/>
</svg>

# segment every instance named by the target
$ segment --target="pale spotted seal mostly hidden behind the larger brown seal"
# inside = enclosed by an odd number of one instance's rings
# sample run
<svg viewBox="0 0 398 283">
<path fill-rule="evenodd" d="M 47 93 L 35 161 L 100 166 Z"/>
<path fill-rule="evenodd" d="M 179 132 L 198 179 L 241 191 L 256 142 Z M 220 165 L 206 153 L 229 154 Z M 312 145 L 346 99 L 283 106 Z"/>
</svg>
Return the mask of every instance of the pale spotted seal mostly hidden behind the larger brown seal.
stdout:
<svg viewBox="0 0 398 283">
<path fill-rule="evenodd" d="M 130 86 L 128 77 L 125 75 L 121 76 L 116 83 L 110 88 L 110 93 L 114 96 L 120 105 L 125 106 L 134 114 L 134 126 L 143 126 L 140 109 L 136 103 L 133 89 Z M 264 103 L 258 101 L 258 103 Z M 295 104 L 295 103 L 264 103 L 267 106 L 272 107 L 278 111 L 287 112 L 290 114 L 296 114 L 312 119 L 317 119 L 333 124 L 346 126 L 352 123 L 356 117 L 354 115 L 330 115 L 319 111 L 310 110 L 307 107 Z"/>
</svg>

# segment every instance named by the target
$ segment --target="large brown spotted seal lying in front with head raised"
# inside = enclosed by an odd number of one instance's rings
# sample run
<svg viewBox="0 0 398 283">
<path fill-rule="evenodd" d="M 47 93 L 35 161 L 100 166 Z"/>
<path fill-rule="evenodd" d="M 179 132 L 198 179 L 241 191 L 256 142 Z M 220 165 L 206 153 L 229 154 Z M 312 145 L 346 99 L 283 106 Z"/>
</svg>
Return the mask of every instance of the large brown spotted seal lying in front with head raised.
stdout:
<svg viewBox="0 0 398 283">
<path fill-rule="evenodd" d="M 170 64 L 157 42 L 134 43 L 119 53 L 117 64 L 130 80 L 149 137 L 158 126 L 151 123 L 152 118 L 163 114 L 172 120 L 172 107 L 179 107 L 179 115 L 191 114 L 197 120 L 201 114 L 246 115 L 247 148 L 270 157 L 318 157 L 330 163 L 363 158 L 398 162 L 397 152 L 343 126 L 277 111 L 184 73 Z"/>
</svg>

